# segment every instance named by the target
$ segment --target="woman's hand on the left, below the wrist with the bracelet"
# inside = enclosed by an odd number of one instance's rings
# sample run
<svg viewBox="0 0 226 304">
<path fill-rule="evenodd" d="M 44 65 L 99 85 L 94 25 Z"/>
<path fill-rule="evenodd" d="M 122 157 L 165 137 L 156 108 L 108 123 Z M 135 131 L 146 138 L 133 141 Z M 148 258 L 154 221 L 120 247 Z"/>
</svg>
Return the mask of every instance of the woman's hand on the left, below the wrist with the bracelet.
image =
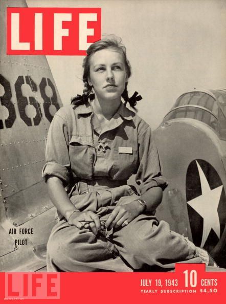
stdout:
<svg viewBox="0 0 226 304">
<path fill-rule="evenodd" d="M 97 234 L 101 227 L 100 219 L 93 211 L 76 211 L 69 217 L 68 222 L 79 229 L 90 228 L 94 234 Z"/>
</svg>

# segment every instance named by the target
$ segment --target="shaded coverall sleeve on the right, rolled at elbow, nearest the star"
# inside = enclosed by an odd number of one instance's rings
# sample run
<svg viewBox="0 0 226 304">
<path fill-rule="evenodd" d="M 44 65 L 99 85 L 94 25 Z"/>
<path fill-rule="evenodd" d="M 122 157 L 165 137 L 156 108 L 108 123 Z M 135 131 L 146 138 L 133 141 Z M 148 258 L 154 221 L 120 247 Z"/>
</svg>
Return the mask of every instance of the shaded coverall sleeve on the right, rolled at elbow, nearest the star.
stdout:
<svg viewBox="0 0 226 304">
<path fill-rule="evenodd" d="M 138 145 L 140 165 L 136 182 L 141 195 L 153 187 L 161 187 L 164 190 L 167 187 L 167 181 L 161 173 L 159 155 L 149 126 L 138 135 Z"/>
</svg>

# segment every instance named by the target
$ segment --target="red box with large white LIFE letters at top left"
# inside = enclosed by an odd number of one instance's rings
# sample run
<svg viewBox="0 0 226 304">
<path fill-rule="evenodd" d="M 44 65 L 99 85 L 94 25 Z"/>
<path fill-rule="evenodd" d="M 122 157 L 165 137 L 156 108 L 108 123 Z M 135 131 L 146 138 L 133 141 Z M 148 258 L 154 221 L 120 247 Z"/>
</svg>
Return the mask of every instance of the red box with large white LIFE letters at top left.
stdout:
<svg viewBox="0 0 226 304">
<path fill-rule="evenodd" d="M 7 55 L 86 55 L 101 8 L 7 8 Z"/>
</svg>

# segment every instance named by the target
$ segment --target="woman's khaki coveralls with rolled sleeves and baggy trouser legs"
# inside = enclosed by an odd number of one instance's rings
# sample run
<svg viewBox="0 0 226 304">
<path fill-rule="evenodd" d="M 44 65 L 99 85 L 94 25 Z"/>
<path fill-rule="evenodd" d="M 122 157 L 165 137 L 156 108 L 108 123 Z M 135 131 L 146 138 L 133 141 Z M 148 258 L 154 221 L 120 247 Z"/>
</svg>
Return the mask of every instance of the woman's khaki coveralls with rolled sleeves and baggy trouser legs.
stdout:
<svg viewBox="0 0 226 304">
<path fill-rule="evenodd" d="M 149 125 L 121 103 L 101 129 L 90 103 L 60 108 L 51 123 L 43 178 L 56 176 L 80 211 L 106 220 L 117 204 L 145 197 L 152 187 L 167 186 Z M 135 174 L 140 194 L 127 185 Z M 95 235 L 70 226 L 58 212 L 47 245 L 48 271 L 133 271 L 144 265 L 170 268 L 197 257 L 195 246 L 170 231 L 153 214 L 141 214 L 121 229 Z"/>
</svg>

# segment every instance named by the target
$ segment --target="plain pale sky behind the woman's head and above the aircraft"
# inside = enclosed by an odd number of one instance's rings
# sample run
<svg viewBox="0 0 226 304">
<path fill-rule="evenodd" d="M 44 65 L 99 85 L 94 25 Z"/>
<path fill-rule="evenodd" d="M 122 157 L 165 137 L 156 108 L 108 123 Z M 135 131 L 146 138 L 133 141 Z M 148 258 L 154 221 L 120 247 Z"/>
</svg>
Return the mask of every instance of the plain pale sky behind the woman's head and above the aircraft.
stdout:
<svg viewBox="0 0 226 304">
<path fill-rule="evenodd" d="M 138 91 L 139 115 L 154 129 L 176 98 L 226 87 L 225 0 L 27 0 L 29 7 L 100 7 L 102 34 L 120 36 Z M 82 56 L 47 56 L 63 104 L 82 94 Z"/>
</svg>

